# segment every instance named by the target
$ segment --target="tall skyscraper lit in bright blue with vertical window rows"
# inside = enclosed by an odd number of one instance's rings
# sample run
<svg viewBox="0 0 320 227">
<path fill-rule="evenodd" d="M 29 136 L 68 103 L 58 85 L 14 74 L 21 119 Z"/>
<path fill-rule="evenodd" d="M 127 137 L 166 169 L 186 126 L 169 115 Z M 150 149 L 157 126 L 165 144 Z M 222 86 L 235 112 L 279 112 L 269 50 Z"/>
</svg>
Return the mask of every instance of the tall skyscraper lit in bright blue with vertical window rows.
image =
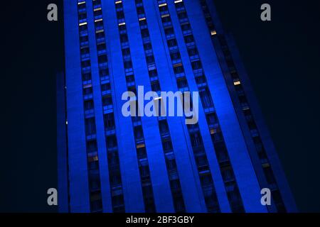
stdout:
<svg viewBox="0 0 320 227">
<path fill-rule="evenodd" d="M 213 1 L 73 0 L 64 11 L 61 212 L 296 211 Z M 198 123 L 124 116 L 122 94 L 138 86 L 198 92 Z"/>
</svg>

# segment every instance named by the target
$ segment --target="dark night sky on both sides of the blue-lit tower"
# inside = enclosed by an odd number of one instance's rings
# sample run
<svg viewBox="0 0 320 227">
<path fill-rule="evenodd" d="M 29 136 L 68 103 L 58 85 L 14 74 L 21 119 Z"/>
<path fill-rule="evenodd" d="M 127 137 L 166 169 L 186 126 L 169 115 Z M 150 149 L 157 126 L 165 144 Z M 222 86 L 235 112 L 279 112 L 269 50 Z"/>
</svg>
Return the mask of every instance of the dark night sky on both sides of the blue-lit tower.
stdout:
<svg viewBox="0 0 320 227">
<path fill-rule="evenodd" d="M 55 72 L 63 69 L 62 1 L 5 1 L 1 6 L 0 211 L 55 211 Z M 260 6 L 272 21 L 260 21 Z M 215 0 L 233 33 L 300 211 L 320 211 L 320 2 Z M 14 9 L 12 11 L 11 9 Z"/>
</svg>

